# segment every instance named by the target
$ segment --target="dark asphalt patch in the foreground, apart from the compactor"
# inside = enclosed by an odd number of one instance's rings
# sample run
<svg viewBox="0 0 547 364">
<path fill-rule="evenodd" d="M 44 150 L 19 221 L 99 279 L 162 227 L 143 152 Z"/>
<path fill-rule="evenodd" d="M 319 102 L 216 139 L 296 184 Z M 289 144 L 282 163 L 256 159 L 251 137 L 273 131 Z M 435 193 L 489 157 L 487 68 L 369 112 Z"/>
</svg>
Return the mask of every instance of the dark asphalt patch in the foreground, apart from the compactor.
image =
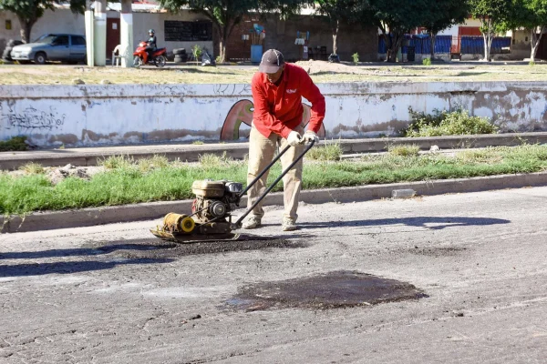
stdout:
<svg viewBox="0 0 547 364">
<path fill-rule="evenodd" d="M 428 297 L 395 279 L 340 270 L 320 276 L 261 282 L 238 289 L 223 308 L 255 311 L 269 308 L 351 308 Z"/>
</svg>

